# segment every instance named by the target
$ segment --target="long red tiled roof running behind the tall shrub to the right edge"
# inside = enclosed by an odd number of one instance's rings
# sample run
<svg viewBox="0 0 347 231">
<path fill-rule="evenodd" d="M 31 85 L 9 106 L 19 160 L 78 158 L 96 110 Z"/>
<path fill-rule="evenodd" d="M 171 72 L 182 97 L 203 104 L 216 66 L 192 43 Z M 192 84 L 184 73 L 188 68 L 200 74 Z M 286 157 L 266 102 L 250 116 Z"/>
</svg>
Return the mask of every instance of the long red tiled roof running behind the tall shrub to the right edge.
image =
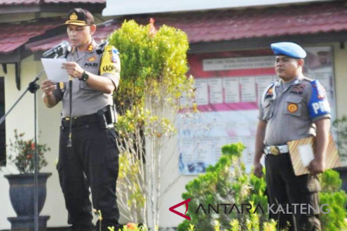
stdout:
<svg viewBox="0 0 347 231">
<path fill-rule="evenodd" d="M 150 17 L 155 18 L 157 28 L 163 24 L 180 28 L 187 33 L 191 43 L 347 30 L 347 5 L 343 2 L 264 9 L 125 16 L 126 19 L 135 19 L 140 24 L 148 24 Z M 105 38 L 117 26 L 111 25 L 108 28 L 109 30 L 106 28 L 97 30 L 95 36 Z M 56 42 L 51 41 L 48 47 L 59 42 L 58 39 Z M 47 48 L 46 45 L 39 44 L 28 47 L 34 51 Z"/>
</svg>

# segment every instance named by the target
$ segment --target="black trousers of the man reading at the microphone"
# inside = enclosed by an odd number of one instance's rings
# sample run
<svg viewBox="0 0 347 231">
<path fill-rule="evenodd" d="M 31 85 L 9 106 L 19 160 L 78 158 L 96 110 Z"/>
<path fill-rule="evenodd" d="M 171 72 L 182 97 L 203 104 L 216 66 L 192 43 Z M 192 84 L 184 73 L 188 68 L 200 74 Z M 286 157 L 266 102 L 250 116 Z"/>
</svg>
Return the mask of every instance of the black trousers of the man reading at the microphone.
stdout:
<svg viewBox="0 0 347 231">
<path fill-rule="evenodd" d="M 59 181 L 68 211 L 68 223 L 74 230 L 92 229 L 92 206 L 101 210 L 102 230 L 118 228 L 116 197 L 119 152 L 114 128 L 100 128 L 98 122 L 72 128 L 72 147 L 67 148 L 69 128 L 61 126 Z M 96 224 L 99 230 L 99 220 Z M 117 229 L 118 230 L 118 229 Z"/>
</svg>

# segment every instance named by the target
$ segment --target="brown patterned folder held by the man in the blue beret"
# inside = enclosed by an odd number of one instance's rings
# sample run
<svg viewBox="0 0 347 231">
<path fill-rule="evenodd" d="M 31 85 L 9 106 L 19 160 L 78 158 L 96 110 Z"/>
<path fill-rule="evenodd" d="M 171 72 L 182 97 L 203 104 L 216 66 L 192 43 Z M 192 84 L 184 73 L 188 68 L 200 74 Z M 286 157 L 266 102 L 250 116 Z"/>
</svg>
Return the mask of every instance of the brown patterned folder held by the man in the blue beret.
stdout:
<svg viewBox="0 0 347 231">
<path fill-rule="evenodd" d="M 301 140 L 294 140 L 287 142 L 289 148 L 289 154 L 291 163 L 293 165 L 294 173 L 296 176 L 308 174 L 309 171 L 307 167 L 304 166 L 303 159 L 300 154 L 300 146 L 309 144 L 312 147 L 313 153 L 315 153 L 316 145 L 315 145 L 315 137 L 307 137 Z M 304 154 L 304 153 L 303 153 Z M 336 144 L 333 140 L 331 133 L 329 134 L 329 143 L 328 149 L 325 154 L 325 167 L 329 168 L 337 168 L 341 167 L 340 156 L 336 148 Z"/>
</svg>

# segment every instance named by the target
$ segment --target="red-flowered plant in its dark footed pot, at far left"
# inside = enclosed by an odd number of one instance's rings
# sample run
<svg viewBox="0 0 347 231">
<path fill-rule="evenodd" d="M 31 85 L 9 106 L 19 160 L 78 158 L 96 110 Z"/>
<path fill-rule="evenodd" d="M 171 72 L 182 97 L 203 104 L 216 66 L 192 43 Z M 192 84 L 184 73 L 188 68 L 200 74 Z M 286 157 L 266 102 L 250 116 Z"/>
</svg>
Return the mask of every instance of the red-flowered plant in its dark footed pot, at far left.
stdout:
<svg viewBox="0 0 347 231">
<path fill-rule="evenodd" d="M 10 201 L 17 217 L 8 217 L 11 222 L 11 230 L 32 230 L 34 227 L 34 151 L 33 139 L 24 140 L 24 133 L 14 130 L 14 141 L 10 140 L 7 152 L 7 164 L 14 166 L 18 174 L 5 175 L 10 185 Z M 50 151 L 46 144 L 37 144 L 38 170 L 47 166 L 44 153 Z M 46 182 L 51 173 L 39 173 L 38 175 L 38 211 L 43 208 L 46 199 Z M 49 216 L 39 217 L 40 231 L 46 229 Z"/>
</svg>

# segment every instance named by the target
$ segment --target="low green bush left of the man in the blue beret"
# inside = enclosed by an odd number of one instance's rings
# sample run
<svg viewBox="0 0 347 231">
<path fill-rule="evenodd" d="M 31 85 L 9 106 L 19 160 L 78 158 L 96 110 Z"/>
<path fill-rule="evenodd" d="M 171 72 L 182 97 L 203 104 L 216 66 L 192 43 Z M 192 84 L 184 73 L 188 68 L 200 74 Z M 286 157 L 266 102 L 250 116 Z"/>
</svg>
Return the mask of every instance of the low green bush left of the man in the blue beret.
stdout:
<svg viewBox="0 0 347 231">
<path fill-rule="evenodd" d="M 209 166 L 205 174 L 199 175 L 196 179 L 186 185 L 187 192 L 183 194 L 184 199 L 194 198 L 188 207 L 187 214 L 191 221 L 185 220 L 179 224 L 179 231 L 186 231 L 194 225 L 195 230 L 276 230 L 273 221 L 268 220 L 268 215 L 262 213 L 260 209 L 253 213 L 257 204 L 266 210 L 267 199 L 264 195 L 265 181 L 255 177 L 253 174 L 246 174 L 245 165 L 240 162 L 240 156 L 244 150 L 241 143 L 226 145 L 222 148 L 222 157 L 214 166 Z M 195 213 L 202 204 L 251 204 L 251 213 L 238 213 L 236 208 L 231 206 L 219 207 L 219 214 L 205 208 Z M 242 208 L 239 208 L 241 210 Z M 227 211 L 225 213 L 225 211 Z M 229 211 L 229 212 L 228 212 Z"/>
</svg>

